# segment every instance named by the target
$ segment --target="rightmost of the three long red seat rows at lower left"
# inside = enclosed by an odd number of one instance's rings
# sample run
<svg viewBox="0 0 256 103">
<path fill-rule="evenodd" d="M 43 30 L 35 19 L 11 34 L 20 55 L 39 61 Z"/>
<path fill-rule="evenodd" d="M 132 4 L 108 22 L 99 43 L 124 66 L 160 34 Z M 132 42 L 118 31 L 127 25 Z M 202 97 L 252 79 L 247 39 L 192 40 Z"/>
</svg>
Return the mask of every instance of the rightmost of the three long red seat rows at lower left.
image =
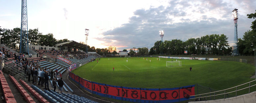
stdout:
<svg viewBox="0 0 256 103">
<path fill-rule="evenodd" d="M 37 93 L 33 88 L 31 88 L 26 82 L 20 79 L 21 84 L 23 84 L 30 93 L 32 93 L 41 103 L 49 103 L 44 97 Z"/>
</svg>

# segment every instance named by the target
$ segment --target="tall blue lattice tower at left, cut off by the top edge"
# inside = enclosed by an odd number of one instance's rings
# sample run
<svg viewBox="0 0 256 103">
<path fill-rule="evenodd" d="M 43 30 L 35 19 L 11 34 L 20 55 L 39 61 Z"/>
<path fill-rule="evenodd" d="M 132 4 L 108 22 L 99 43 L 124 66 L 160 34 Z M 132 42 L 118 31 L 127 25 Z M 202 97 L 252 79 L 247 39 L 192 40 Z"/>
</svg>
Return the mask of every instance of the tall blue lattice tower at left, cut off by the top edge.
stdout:
<svg viewBox="0 0 256 103">
<path fill-rule="evenodd" d="M 27 51 L 26 51 L 27 50 Z M 21 1 L 21 41 L 20 53 L 28 52 L 27 0 Z"/>
</svg>

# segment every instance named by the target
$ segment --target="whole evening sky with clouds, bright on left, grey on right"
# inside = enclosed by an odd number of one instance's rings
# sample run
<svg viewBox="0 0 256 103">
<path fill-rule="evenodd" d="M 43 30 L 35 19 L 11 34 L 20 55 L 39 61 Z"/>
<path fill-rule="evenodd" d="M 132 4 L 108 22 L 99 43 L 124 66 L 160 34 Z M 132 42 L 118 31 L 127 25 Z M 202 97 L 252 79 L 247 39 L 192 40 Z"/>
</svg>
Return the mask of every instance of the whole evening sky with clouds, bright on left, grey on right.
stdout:
<svg viewBox="0 0 256 103">
<path fill-rule="evenodd" d="M 232 10 L 238 9 L 238 38 L 250 30 L 256 0 L 27 0 L 28 28 L 56 39 L 85 42 L 96 48 L 116 46 L 118 50 L 154 45 L 160 40 L 225 34 L 234 41 Z M 21 26 L 21 0 L 0 1 L 0 26 Z"/>
</svg>

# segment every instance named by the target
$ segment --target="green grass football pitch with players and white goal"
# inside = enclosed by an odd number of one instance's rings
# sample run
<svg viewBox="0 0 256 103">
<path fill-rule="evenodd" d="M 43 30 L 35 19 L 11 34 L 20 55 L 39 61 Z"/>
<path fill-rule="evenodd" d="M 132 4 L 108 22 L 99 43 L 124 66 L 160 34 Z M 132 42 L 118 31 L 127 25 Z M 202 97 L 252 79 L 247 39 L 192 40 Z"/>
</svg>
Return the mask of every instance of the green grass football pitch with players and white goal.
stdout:
<svg viewBox="0 0 256 103">
<path fill-rule="evenodd" d="M 156 57 L 100 58 L 72 71 L 90 81 L 135 88 L 175 88 L 200 84 L 221 90 L 254 79 L 254 66 L 233 61 L 185 60 L 181 67 L 166 67 L 166 61 L 176 59 Z M 121 60 L 122 59 L 122 60 Z M 149 62 L 151 60 L 151 62 Z M 114 71 L 113 71 L 114 67 Z M 192 71 L 189 68 L 192 67 Z"/>
</svg>

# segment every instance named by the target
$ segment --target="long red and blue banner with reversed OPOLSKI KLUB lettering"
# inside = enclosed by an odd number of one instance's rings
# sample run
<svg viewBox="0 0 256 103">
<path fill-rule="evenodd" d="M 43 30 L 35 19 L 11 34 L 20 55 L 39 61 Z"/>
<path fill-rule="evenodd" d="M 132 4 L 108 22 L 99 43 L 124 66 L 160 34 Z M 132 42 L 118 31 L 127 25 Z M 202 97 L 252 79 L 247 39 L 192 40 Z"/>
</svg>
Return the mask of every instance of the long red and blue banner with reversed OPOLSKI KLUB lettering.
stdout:
<svg viewBox="0 0 256 103">
<path fill-rule="evenodd" d="M 191 95 L 195 94 L 194 85 L 163 89 L 130 88 L 92 82 L 83 79 L 72 72 L 69 72 L 69 78 L 89 93 L 130 102 L 179 102 L 189 100 L 192 98 Z"/>
</svg>

